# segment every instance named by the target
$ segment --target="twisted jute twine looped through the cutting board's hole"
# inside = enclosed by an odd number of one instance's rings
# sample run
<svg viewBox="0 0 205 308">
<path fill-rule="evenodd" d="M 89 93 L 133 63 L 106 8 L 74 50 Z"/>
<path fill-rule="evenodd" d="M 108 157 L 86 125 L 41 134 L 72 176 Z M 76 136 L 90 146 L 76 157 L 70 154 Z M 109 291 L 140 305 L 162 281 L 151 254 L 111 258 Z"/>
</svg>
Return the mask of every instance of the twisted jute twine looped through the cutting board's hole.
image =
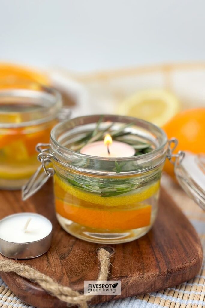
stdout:
<svg viewBox="0 0 205 308">
<path fill-rule="evenodd" d="M 100 273 L 97 280 L 107 280 L 110 269 L 111 253 L 104 248 L 101 248 L 98 250 L 97 254 L 100 261 Z M 0 272 L 14 272 L 32 282 L 36 282 L 49 294 L 57 297 L 63 302 L 67 302 L 70 305 L 77 305 L 81 308 L 87 308 L 87 302 L 93 298 L 93 295 L 84 295 L 78 291 L 74 291 L 67 286 L 59 284 L 53 278 L 42 274 L 33 267 L 20 264 L 15 261 L 0 260 Z"/>
</svg>

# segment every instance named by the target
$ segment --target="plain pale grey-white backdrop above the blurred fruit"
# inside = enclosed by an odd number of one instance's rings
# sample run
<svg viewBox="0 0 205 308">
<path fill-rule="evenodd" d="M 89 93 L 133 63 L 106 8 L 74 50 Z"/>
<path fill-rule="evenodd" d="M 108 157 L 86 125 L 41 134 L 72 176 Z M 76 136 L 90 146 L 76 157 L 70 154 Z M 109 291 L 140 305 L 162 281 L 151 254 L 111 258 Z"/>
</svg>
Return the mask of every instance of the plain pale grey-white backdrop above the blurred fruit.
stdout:
<svg viewBox="0 0 205 308">
<path fill-rule="evenodd" d="M 203 0 L 0 0 L 0 60 L 93 71 L 205 59 Z"/>
</svg>

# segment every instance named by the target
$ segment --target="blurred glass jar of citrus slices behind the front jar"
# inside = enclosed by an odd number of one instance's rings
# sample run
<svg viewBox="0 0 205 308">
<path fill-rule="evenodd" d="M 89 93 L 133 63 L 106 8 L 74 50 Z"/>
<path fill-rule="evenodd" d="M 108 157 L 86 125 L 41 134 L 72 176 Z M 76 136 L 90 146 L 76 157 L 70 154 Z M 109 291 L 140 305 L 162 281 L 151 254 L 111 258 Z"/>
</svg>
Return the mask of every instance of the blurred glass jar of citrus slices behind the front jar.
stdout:
<svg viewBox="0 0 205 308">
<path fill-rule="evenodd" d="M 61 95 L 52 88 L 0 91 L 0 188 L 20 189 L 39 165 L 36 144 L 49 142 Z"/>
</svg>

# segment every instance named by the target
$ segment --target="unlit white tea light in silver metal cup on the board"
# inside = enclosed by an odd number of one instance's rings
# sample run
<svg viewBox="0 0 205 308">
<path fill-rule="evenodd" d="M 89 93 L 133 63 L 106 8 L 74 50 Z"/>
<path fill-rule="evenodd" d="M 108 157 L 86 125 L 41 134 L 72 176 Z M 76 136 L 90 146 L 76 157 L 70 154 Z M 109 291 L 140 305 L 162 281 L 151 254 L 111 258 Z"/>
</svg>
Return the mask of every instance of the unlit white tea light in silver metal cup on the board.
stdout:
<svg viewBox="0 0 205 308">
<path fill-rule="evenodd" d="M 52 224 L 36 213 L 18 213 L 0 220 L 0 253 L 8 258 L 34 258 L 51 245 Z"/>
</svg>

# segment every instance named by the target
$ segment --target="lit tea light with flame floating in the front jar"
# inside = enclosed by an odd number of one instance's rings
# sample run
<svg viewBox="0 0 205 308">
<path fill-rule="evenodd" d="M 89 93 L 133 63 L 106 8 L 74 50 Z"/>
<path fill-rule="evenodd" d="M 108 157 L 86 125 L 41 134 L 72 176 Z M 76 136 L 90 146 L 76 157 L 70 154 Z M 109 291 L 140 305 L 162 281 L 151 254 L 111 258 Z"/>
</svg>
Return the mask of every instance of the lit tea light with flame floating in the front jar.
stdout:
<svg viewBox="0 0 205 308">
<path fill-rule="evenodd" d="M 131 145 L 112 140 L 112 137 L 105 135 L 104 141 L 95 141 L 86 144 L 81 148 L 81 154 L 98 156 L 98 157 L 129 157 L 135 155 L 135 149 Z"/>
</svg>

